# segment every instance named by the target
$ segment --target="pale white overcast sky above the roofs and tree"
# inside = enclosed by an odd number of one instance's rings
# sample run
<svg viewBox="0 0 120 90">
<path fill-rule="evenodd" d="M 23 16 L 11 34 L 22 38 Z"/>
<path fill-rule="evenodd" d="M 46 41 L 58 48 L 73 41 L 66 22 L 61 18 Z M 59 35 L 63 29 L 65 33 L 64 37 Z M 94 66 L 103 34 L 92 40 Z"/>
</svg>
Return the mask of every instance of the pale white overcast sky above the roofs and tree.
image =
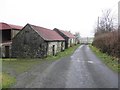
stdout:
<svg viewBox="0 0 120 90">
<path fill-rule="evenodd" d="M 117 18 L 119 0 L 0 0 L 0 22 L 79 32 L 93 36 L 97 17 L 112 9 Z"/>
</svg>

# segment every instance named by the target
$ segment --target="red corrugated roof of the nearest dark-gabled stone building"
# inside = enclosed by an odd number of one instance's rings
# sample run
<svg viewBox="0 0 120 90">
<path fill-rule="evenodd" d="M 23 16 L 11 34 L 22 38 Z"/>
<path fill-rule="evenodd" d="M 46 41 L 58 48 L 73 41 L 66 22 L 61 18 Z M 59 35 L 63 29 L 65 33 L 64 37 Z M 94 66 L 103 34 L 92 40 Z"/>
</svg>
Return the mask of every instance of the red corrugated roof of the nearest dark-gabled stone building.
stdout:
<svg viewBox="0 0 120 90">
<path fill-rule="evenodd" d="M 54 30 L 43 28 L 40 26 L 30 25 L 44 40 L 46 41 L 63 41 L 65 40 Z"/>
</svg>

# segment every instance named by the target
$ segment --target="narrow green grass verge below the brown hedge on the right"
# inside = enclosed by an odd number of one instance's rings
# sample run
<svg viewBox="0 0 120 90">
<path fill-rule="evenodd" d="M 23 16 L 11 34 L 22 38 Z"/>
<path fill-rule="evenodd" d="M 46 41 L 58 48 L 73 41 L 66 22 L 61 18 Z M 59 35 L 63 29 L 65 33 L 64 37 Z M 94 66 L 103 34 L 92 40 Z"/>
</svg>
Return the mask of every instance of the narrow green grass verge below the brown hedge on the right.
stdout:
<svg viewBox="0 0 120 90">
<path fill-rule="evenodd" d="M 89 45 L 91 50 L 113 71 L 120 72 L 120 64 L 118 64 L 118 58 L 107 55 L 106 53 L 100 52 L 96 47 Z"/>
</svg>

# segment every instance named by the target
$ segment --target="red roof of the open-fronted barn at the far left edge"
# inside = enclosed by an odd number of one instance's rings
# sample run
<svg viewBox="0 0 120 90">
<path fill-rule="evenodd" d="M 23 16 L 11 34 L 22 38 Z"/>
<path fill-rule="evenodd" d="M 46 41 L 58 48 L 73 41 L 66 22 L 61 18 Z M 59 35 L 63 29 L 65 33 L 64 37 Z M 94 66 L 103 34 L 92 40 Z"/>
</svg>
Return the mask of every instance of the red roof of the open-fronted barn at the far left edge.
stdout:
<svg viewBox="0 0 120 90">
<path fill-rule="evenodd" d="M 0 30 L 8 30 L 8 29 L 15 29 L 15 30 L 21 30 L 23 27 L 18 25 L 12 25 L 7 23 L 0 23 Z"/>
</svg>

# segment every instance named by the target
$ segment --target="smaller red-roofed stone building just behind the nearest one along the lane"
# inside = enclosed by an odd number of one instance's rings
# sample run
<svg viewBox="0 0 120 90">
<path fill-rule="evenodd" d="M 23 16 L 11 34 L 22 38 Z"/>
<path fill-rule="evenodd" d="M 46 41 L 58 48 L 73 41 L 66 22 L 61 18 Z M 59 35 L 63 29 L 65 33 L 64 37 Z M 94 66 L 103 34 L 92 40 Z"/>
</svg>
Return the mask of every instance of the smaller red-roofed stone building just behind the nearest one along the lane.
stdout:
<svg viewBox="0 0 120 90">
<path fill-rule="evenodd" d="M 75 36 L 72 33 L 68 32 L 68 31 L 59 30 L 57 28 L 54 28 L 54 31 L 59 33 L 65 39 L 65 48 L 66 49 L 75 44 Z"/>
</svg>

